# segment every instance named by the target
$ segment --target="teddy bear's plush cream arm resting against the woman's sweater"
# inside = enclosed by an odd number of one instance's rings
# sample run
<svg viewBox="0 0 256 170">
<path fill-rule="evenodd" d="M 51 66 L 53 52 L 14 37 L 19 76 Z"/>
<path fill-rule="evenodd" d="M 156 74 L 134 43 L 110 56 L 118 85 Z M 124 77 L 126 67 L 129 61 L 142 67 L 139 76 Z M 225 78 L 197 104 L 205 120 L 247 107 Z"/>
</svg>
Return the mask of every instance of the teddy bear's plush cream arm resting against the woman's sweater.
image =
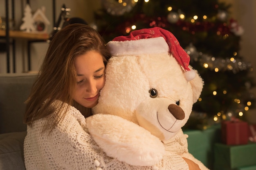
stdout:
<svg viewBox="0 0 256 170">
<path fill-rule="evenodd" d="M 137 124 L 115 115 L 86 118 L 94 141 L 110 157 L 134 166 L 153 166 L 162 160 L 162 142 Z"/>
</svg>

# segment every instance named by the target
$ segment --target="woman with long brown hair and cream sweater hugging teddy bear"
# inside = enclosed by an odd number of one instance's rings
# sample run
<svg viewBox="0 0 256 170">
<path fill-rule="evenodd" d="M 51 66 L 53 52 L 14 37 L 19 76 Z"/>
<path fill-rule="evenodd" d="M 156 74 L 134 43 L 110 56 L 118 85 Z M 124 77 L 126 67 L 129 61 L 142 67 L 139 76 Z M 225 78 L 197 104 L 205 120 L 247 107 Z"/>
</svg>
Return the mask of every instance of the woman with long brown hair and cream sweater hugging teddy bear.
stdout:
<svg viewBox="0 0 256 170">
<path fill-rule="evenodd" d="M 155 167 L 130 166 L 108 157 L 88 134 L 85 117 L 92 114 L 91 108 L 98 102 L 109 57 L 103 39 L 90 26 L 70 24 L 54 35 L 26 101 L 27 170 L 173 167 L 168 161 L 167 165 L 159 163 Z"/>
</svg>

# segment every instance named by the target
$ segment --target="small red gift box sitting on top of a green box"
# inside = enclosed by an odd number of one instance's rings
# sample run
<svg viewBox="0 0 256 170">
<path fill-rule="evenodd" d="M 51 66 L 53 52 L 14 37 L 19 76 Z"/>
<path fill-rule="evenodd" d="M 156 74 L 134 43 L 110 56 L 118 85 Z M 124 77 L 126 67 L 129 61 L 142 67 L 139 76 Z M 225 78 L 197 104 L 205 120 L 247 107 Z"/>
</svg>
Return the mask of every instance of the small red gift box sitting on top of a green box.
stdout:
<svg viewBox="0 0 256 170">
<path fill-rule="evenodd" d="M 248 144 L 248 123 L 239 119 L 222 121 L 221 137 L 222 143 L 227 145 Z"/>
</svg>

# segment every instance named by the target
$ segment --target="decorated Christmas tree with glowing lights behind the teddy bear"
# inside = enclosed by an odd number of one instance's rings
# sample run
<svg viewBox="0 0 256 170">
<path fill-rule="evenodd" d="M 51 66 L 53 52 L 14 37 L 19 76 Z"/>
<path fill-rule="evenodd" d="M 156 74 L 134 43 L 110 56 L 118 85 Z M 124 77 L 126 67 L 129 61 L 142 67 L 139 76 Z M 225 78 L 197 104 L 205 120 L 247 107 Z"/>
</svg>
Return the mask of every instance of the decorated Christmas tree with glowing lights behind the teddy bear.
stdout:
<svg viewBox="0 0 256 170">
<path fill-rule="evenodd" d="M 222 119 L 245 119 L 255 107 L 252 66 L 239 55 L 244 30 L 229 17 L 230 7 L 218 0 L 102 0 L 95 24 L 106 42 L 134 29 L 171 31 L 204 79 L 187 127 L 206 128 Z"/>
</svg>

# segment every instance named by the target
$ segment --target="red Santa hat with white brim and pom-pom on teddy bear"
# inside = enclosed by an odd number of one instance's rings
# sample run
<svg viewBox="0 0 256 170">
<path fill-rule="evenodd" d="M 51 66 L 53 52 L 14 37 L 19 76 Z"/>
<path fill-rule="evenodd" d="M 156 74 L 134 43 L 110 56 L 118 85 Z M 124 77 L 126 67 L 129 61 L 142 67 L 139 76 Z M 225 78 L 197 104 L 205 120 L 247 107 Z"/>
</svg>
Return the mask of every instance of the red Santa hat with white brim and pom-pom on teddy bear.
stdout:
<svg viewBox="0 0 256 170">
<path fill-rule="evenodd" d="M 195 77 L 195 72 L 188 67 L 189 55 L 171 32 L 160 27 L 135 30 L 128 36 L 116 37 L 107 43 L 107 47 L 112 56 L 168 52 L 184 68 L 187 81 Z"/>
</svg>

